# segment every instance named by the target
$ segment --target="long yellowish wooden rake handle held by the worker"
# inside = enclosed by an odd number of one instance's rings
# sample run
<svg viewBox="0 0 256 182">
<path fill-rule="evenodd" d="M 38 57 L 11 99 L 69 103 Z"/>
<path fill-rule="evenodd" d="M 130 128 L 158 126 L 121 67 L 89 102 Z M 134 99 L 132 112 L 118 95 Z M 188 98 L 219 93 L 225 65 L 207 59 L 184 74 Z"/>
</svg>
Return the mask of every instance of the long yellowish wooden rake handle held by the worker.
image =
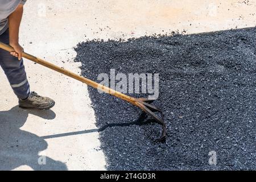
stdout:
<svg viewBox="0 0 256 182">
<path fill-rule="evenodd" d="M 5 51 L 8 51 L 8 52 L 14 51 L 13 47 L 8 46 L 7 44 L 4 44 L 2 42 L 0 42 L 0 48 L 4 49 Z M 79 81 L 81 81 L 81 82 L 83 82 L 83 83 L 85 83 L 87 85 L 90 85 L 93 88 L 102 90 L 105 93 L 109 93 L 109 94 L 111 94 L 111 95 L 113 95 L 115 97 L 118 97 L 118 98 L 121 98 L 122 100 L 130 102 L 131 104 L 133 104 L 135 106 L 138 106 L 136 99 L 133 98 L 133 97 L 127 96 L 126 94 L 117 92 L 117 91 L 115 91 L 113 89 L 110 89 L 110 88 L 104 86 L 104 85 L 101 85 L 101 84 L 98 84 L 97 82 L 89 80 L 88 78 L 76 75 L 75 73 L 73 73 L 71 71 L 68 71 L 66 69 L 57 67 L 56 65 L 54 65 L 52 63 L 49 63 L 49 62 L 47 62 L 45 60 L 42 60 L 42 59 L 40 59 L 38 57 L 32 56 L 32 55 L 30 55 L 30 54 L 28 54 L 26 52 L 22 53 L 22 57 L 24 57 L 24 58 L 26 58 L 28 60 L 34 61 L 35 63 L 38 63 L 40 65 L 43 65 L 44 67 L 53 69 L 54 71 L 62 73 L 63 75 L 67 75 L 68 77 L 75 78 L 76 80 L 79 80 Z"/>
</svg>

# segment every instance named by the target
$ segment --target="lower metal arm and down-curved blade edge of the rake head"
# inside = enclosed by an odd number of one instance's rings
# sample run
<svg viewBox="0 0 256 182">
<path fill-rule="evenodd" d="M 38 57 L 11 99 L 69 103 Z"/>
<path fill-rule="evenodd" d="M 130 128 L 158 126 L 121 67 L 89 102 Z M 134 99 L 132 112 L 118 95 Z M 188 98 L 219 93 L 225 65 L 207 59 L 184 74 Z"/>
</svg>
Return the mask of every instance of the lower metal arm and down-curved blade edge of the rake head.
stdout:
<svg viewBox="0 0 256 182">
<path fill-rule="evenodd" d="M 162 142 L 166 139 L 166 123 L 164 123 L 163 119 L 160 119 L 157 115 L 155 115 L 150 109 L 146 107 L 146 105 L 142 104 L 141 102 L 137 102 L 138 107 L 140 107 L 145 113 L 150 115 L 152 118 L 155 119 L 160 125 L 162 125 L 162 137 L 156 139 L 156 142 Z"/>
</svg>

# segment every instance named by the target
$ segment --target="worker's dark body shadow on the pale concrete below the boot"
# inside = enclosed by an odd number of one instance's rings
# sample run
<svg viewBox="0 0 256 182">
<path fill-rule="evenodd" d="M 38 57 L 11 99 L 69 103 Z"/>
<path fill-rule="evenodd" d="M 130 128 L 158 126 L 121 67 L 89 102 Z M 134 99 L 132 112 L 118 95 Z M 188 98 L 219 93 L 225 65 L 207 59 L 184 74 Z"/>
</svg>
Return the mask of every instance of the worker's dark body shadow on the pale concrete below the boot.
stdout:
<svg viewBox="0 0 256 182">
<path fill-rule="evenodd" d="M 55 118 L 52 110 L 23 110 L 15 106 L 11 110 L 0 111 L 0 170 L 11 170 L 23 165 L 34 170 L 67 170 L 64 163 L 38 154 L 46 150 L 46 140 L 20 129 L 28 114 L 44 119 Z"/>
</svg>

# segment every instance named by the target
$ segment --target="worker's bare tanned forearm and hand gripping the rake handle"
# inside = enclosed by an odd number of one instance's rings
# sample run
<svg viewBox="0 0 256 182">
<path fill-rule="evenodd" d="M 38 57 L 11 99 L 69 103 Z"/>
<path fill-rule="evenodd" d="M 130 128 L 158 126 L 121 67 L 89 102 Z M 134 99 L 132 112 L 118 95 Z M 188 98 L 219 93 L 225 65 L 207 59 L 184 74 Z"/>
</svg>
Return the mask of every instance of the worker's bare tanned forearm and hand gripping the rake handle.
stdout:
<svg viewBox="0 0 256 182">
<path fill-rule="evenodd" d="M 23 5 L 20 4 L 16 10 L 9 15 L 9 41 L 10 46 L 14 48 L 13 52 L 10 52 L 11 55 L 22 59 L 23 48 L 19 45 L 19 26 L 22 20 L 23 14 Z"/>
</svg>

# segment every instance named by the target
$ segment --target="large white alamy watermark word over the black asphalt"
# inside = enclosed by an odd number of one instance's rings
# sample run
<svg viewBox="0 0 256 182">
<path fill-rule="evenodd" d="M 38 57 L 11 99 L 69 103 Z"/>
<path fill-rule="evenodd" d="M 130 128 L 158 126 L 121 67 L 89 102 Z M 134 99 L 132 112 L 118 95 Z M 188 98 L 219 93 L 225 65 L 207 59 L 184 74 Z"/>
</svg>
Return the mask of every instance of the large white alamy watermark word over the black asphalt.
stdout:
<svg viewBox="0 0 256 182">
<path fill-rule="evenodd" d="M 157 99 L 159 96 L 159 73 L 115 73 L 110 69 L 110 75 L 100 73 L 97 77 L 100 84 L 121 93 L 149 94 L 149 99 Z M 99 93 L 103 91 L 98 88 Z"/>
</svg>

